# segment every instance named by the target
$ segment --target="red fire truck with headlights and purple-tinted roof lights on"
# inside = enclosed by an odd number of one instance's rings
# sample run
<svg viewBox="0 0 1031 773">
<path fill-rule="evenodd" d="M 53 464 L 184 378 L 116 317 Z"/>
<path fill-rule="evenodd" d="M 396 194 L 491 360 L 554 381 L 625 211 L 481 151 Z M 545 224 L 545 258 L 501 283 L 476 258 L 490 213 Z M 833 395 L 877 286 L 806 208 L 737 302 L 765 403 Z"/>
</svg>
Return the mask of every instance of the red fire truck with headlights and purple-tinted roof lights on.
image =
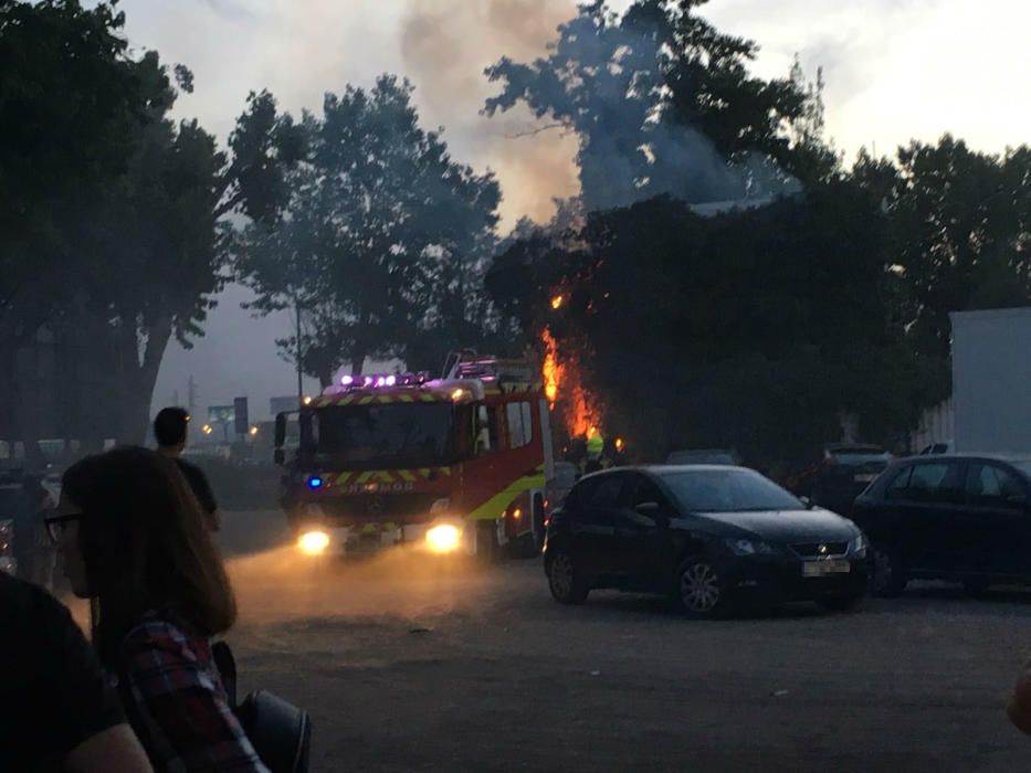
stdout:
<svg viewBox="0 0 1031 773">
<path fill-rule="evenodd" d="M 414 542 L 436 553 L 539 550 L 555 463 L 532 363 L 453 354 L 444 377 L 345 375 L 297 414 L 283 506 L 306 553 Z"/>
</svg>

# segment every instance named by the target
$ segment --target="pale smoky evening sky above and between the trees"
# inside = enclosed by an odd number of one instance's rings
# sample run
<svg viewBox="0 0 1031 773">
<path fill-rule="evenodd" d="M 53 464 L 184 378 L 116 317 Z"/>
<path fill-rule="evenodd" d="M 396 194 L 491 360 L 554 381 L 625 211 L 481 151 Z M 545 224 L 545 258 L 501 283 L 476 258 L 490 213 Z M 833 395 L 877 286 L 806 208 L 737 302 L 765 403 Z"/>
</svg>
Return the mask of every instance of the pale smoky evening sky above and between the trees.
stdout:
<svg viewBox="0 0 1031 773">
<path fill-rule="evenodd" d="M 536 124 L 519 110 L 480 113 L 494 93 L 483 68 L 502 55 L 545 53 L 575 0 L 123 0 L 119 8 L 134 49 L 157 49 L 193 71 L 194 93 L 177 112 L 221 140 L 252 89 L 269 88 L 294 114 L 318 112 L 326 92 L 390 72 L 413 83 L 424 124 L 445 128 L 459 160 L 497 173 L 503 226 L 523 215 L 546 221 L 555 198 L 576 193 L 571 137 L 527 135 Z M 863 146 L 892 153 L 945 131 L 992 152 L 1031 141 L 1023 0 L 712 0 L 702 14 L 760 44 L 758 75 L 786 75 L 796 54 L 810 76 L 822 67 L 828 135 L 846 159 Z M 201 409 L 248 395 L 259 419 L 269 398 L 296 391 L 274 345 L 288 335 L 288 316 L 254 319 L 241 308 L 248 298 L 230 286 L 207 335 L 191 350 L 169 347 L 156 407 L 177 391 L 185 401 L 191 374 Z"/>
</svg>

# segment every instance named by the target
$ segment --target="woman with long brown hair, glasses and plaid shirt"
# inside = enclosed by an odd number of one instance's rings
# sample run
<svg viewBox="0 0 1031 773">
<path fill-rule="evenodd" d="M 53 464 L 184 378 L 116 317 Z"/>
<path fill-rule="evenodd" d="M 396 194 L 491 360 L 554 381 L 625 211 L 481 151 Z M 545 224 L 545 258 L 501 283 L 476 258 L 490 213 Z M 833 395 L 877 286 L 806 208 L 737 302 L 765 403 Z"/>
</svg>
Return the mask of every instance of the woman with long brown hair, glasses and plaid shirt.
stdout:
<svg viewBox="0 0 1031 773">
<path fill-rule="evenodd" d="M 155 767 L 265 771 L 211 655 L 236 617 L 232 589 L 175 463 L 135 447 L 78 462 L 49 528 L 73 592 L 95 601 L 94 644 Z"/>
</svg>

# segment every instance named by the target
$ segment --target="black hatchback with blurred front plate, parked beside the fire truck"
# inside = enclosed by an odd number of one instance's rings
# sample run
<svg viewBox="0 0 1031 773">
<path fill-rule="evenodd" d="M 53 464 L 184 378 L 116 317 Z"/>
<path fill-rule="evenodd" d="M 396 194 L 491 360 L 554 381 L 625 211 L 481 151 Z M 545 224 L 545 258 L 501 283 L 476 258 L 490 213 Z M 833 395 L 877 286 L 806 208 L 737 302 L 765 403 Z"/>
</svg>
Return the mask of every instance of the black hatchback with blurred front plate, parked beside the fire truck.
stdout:
<svg viewBox="0 0 1031 773">
<path fill-rule="evenodd" d="M 670 594 L 687 614 L 736 601 L 818 601 L 866 591 L 863 534 L 741 467 L 621 468 L 587 476 L 548 523 L 545 572 L 564 604 L 592 589 Z"/>
</svg>

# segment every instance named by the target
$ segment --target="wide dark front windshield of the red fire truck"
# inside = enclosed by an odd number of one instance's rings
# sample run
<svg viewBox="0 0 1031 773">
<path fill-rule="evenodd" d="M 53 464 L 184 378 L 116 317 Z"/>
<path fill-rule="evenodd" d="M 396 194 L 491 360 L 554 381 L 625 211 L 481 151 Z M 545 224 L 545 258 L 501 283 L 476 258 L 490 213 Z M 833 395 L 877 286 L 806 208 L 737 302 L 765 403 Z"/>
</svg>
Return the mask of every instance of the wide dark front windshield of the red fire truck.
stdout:
<svg viewBox="0 0 1031 773">
<path fill-rule="evenodd" d="M 449 463 L 451 427 L 449 403 L 390 403 L 319 409 L 312 428 L 319 456 L 375 469 Z"/>
</svg>

